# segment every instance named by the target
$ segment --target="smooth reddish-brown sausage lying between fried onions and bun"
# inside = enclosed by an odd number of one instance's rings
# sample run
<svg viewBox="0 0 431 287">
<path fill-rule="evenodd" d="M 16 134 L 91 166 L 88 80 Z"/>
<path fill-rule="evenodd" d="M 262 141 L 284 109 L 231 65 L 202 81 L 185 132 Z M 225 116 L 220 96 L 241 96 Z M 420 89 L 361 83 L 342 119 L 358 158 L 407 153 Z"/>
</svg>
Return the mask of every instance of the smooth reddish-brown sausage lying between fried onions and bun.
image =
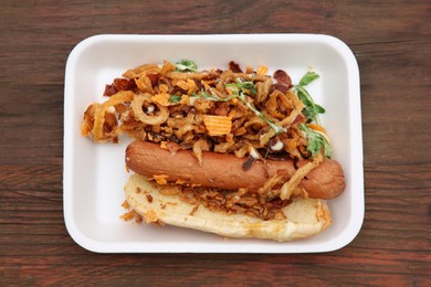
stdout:
<svg viewBox="0 0 431 287">
<path fill-rule="evenodd" d="M 167 176 L 167 180 L 171 182 L 181 180 L 207 188 L 224 190 L 246 188 L 250 191 L 257 191 L 278 170 L 285 170 L 290 174 L 296 171 L 293 160 L 256 161 L 245 171 L 242 168 L 244 160 L 232 155 L 203 152 L 202 158 L 202 166 L 199 166 L 190 150 L 171 153 L 159 148 L 159 145 L 147 141 L 134 141 L 126 149 L 126 164 L 136 173 L 148 178 Z M 298 161 L 297 166 L 301 167 L 305 162 Z M 345 188 L 343 169 L 337 161 L 324 159 L 299 185 L 306 190 L 309 198 L 333 199 Z"/>
</svg>

